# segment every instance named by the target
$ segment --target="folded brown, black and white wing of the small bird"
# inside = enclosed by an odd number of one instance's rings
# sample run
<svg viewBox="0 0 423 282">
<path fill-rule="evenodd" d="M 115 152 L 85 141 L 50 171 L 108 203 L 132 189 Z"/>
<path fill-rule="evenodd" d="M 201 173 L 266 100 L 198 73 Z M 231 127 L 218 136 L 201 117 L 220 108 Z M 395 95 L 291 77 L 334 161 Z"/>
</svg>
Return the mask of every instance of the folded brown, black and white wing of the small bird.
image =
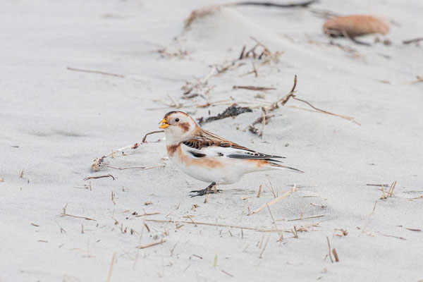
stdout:
<svg viewBox="0 0 423 282">
<path fill-rule="evenodd" d="M 233 159 L 284 158 L 256 152 L 255 150 L 228 141 L 218 135 L 209 133 L 206 130 L 200 130 L 182 143 L 182 149 L 190 153 L 192 157 L 227 157 Z"/>
</svg>

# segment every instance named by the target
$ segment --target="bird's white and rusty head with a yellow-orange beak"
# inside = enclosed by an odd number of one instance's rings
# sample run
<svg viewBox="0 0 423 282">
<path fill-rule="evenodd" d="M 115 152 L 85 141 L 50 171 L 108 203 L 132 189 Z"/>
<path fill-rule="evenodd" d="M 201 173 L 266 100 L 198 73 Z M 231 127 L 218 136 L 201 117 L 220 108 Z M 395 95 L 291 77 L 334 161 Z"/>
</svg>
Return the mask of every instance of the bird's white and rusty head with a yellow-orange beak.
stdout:
<svg viewBox="0 0 423 282">
<path fill-rule="evenodd" d="M 185 140 L 198 127 L 194 119 L 182 111 L 169 111 L 160 123 L 159 128 L 164 129 L 168 144 Z"/>
</svg>

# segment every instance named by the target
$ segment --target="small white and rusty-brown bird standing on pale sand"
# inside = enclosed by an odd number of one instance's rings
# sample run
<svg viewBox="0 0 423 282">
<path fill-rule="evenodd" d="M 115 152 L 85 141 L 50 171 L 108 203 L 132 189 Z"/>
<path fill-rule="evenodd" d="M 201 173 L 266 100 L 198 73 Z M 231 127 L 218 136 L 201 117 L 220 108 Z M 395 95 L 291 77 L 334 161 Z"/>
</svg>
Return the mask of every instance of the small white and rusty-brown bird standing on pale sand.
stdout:
<svg viewBox="0 0 423 282">
<path fill-rule="evenodd" d="M 192 178 L 212 183 L 203 190 L 191 191 L 197 192 L 192 197 L 217 192 L 212 188 L 235 183 L 245 173 L 271 169 L 304 172 L 276 160 L 284 157 L 259 153 L 209 133 L 182 111 L 169 111 L 159 124 L 164 129 L 167 153 L 173 164 Z"/>
</svg>

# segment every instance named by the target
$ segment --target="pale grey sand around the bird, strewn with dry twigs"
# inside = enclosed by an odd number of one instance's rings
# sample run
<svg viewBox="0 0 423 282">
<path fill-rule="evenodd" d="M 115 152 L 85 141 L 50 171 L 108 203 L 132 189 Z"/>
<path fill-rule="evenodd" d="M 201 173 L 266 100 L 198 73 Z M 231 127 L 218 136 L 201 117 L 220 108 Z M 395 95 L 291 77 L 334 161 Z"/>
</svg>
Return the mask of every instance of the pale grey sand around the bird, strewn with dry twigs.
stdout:
<svg viewBox="0 0 423 282">
<path fill-rule="evenodd" d="M 371 47 L 333 41 L 342 48 L 329 44 L 325 19 L 307 9 L 224 7 L 184 30 L 192 10 L 219 3 L 2 4 L 0 281 L 423 279 L 423 82 L 410 84 L 423 75 L 423 56 L 421 44 L 402 44 L 422 36 L 422 3 L 314 4 L 342 15 L 377 13 L 391 20 L 386 37 L 361 38 Z M 209 102 L 231 99 L 226 104 L 197 108 L 207 100 L 181 99 L 185 82 L 237 59 L 243 45 L 255 45 L 251 37 L 283 54 L 265 65 L 245 59 L 245 65 L 195 90 L 204 95 L 215 85 Z M 392 44 L 374 43 L 375 37 Z M 159 49 L 171 55 L 161 56 Z M 249 73 L 253 61 L 257 77 Z M 164 159 L 164 142 L 153 142 L 163 134 L 106 158 L 106 164 L 164 167 L 91 170 L 96 157 L 157 130 L 164 114 L 176 108 L 162 102 L 185 104 L 180 110 L 195 118 L 214 116 L 233 102 L 257 106 L 278 100 L 290 91 L 294 75 L 299 99 L 361 125 L 295 108 L 311 109 L 290 99 L 269 113 L 275 116 L 263 137 L 243 131 L 262 114 L 259 108 L 204 128 L 281 154 L 286 165 L 306 173 L 250 174 L 221 186 L 223 192 L 206 204 L 204 197 L 188 195 L 208 183 L 178 171 Z M 233 90 L 234 85 L 276 90 Z M 84 180 L 108 174 L 114 179 Z M 387 184 L 388 190 L 394 181 L 386 199 L 380 186 L 367 185 Z M 270 183 L 276 197 L 298 184 L 298 191 L 270 206 L 284 230 L 281 242 L 280 232 L 260 231 L 275 228 L 267 208 L 247 216 L 274 199 Z M 94 221 L 63 216 L 64 207 L 66 214 Z M 140 216 L 145 213 L 159 214 Z M 339 262 L 327 257 L 326 238 Z M 137 249 L 152 243 L 160 244 Z"/>
</svg>

